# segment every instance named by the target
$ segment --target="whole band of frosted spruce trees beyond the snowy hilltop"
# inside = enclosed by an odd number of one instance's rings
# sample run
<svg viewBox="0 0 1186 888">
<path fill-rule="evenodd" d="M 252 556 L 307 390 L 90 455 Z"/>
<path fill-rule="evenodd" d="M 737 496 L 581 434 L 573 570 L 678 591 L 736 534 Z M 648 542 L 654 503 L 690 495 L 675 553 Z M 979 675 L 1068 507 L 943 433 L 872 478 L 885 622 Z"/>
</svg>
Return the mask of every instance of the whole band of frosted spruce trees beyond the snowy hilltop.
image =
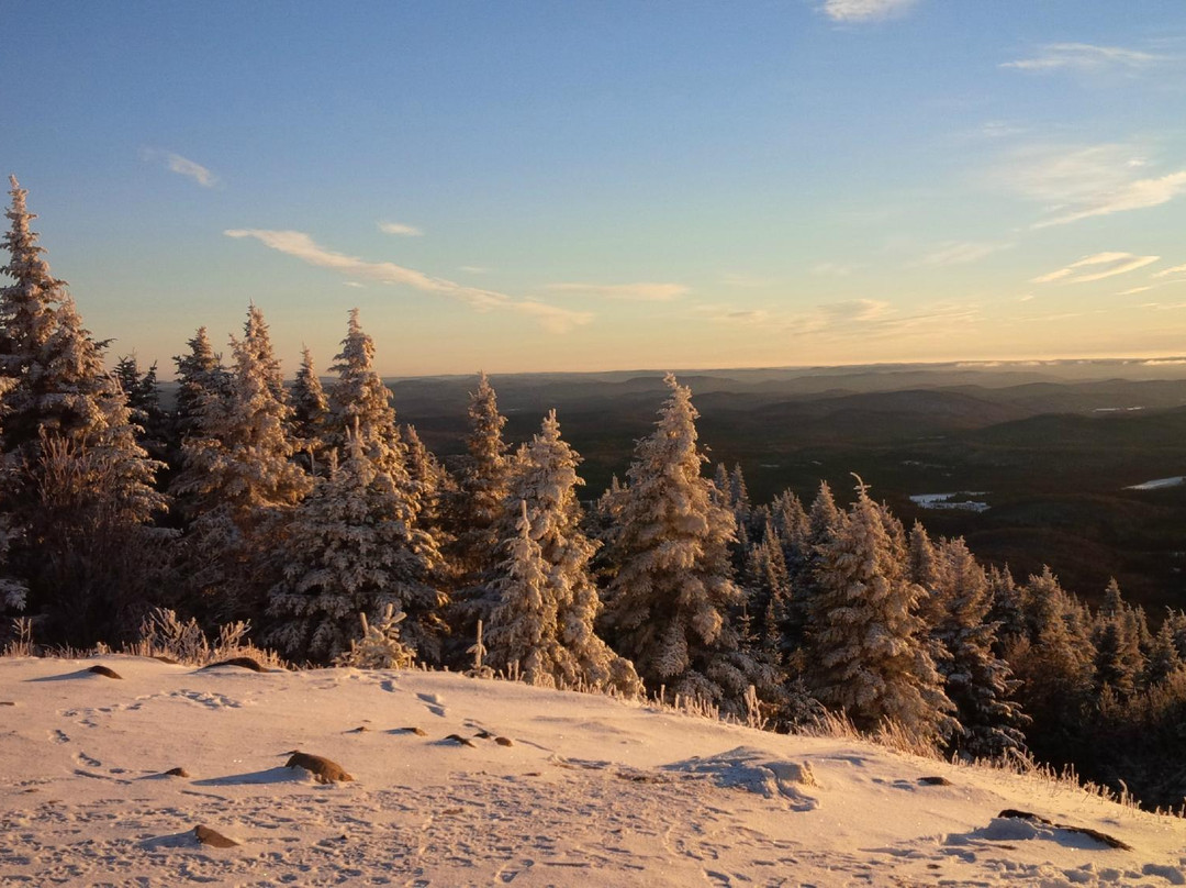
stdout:
<svg viewBox="0 0 1186 888">
<path fill-rule="evenodd" d="M 227 362 L 199 329 L 165 410 L 155 367 L 104 368 L 15 179 L 11 194 L 0 602 L 39 641 L 120 643 L 165 607 L 249 620 L 298 664 L 415 657 L 680 694 L 780 730 L 829 710 L 1182 804 L 1182 611 L 1154 630 L 1115 584 L 1095 611 L 1048 570 L 1018 584 L 961 539 L 907 531 L 859 478 L 844 507 L 827 484 L 754 505 L 740 469 L 704 476 L 671 376 L 592 508 L 555 412 L 511 448 L 484 375 L 466 452 L 442 464 L 398 424 L 357 311 L 325 387 L 307 350 L 285 385 L 256 306 Z"/>
</svg>

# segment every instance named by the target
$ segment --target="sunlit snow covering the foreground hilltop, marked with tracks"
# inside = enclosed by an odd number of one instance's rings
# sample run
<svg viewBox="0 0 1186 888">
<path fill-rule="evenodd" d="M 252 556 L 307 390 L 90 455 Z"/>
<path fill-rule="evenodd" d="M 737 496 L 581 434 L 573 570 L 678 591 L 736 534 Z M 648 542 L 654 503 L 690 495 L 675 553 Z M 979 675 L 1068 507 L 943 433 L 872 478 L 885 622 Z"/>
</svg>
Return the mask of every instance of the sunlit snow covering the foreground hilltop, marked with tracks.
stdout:
<svg viewBox="0 0 1186 888">
<path fill-rule="evenodd" d="M 519 684 L 4 659 L 0 704 L 4 884 L 1186 883 L 1186 820 Z M 285 767 L 294 749 L 355 780 Z"/>
</svg>

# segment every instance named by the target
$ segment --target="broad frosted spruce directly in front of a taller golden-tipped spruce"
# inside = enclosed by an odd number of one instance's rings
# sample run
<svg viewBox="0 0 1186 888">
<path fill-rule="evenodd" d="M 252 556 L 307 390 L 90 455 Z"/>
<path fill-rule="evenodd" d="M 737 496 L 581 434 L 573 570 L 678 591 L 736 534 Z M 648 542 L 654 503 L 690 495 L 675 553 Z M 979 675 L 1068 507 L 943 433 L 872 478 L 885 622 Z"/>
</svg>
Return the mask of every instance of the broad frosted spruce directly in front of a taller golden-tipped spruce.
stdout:
<svg viewBox="0 0 1186 888">
<path fill-rule="evenodd" d="M 268 592 L 269 643 L 295 660 L 330 662 L 358 638 L 358 614 L 388 605 L 408 615 L 403 641 L 435 645 L 441 596 L 433 585 L 439 554 L 415 526 L 408 497 L 388 472 L 346 440 L 340 465 L 320 477 L 288 522 L 283 573 Z"/>
</svg>

